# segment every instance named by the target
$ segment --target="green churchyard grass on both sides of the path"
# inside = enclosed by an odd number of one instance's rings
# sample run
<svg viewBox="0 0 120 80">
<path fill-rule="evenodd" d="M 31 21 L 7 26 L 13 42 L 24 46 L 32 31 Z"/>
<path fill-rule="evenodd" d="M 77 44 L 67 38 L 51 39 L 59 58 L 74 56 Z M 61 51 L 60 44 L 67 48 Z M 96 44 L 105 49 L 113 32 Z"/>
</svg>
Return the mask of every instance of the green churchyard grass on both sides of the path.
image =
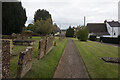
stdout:
<svg viewBox="0 0 120 80">
<path fill-rule="evenodd" d="M 37 60 L 40 39 L 40 37 L 32 38 L 32 40 L 35 40 L 35 45 L 32 46 L 34 48 L 33 64 L 24 78 L 52 78 L 67 44 L 66 38 L 60 41 L 56 37 L 54 41 L 57 42 L 57 46 L 53 47 L 49 54 L 42 59 Z M 118 77 L 118 64 L 106 63 L 101 59 L 101 57 L 118 57 L 118 47 L 92 41 L 82 42 L 76 38 L 72 38 L 72 40 L 79 51 L 90 78 Z M 16 77 L 19 53 L 26 47 L 14 46 L 14 55 L 10 57 L 10 78 Z"/>
</svg>

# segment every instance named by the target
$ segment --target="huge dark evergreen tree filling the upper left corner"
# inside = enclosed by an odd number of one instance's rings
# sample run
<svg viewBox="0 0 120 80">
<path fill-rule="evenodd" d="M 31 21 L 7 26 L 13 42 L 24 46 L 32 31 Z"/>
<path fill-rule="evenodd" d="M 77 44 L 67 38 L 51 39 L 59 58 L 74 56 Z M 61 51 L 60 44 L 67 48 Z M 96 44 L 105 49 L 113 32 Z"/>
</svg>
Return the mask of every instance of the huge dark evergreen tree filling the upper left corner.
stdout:
<svg viewBox="0 0 120 80">
<path fill-rule="evenodd" d="M 2 3 L 2 34 L 20 33 L 27 20 L 21 2 Z"/>
</svg>

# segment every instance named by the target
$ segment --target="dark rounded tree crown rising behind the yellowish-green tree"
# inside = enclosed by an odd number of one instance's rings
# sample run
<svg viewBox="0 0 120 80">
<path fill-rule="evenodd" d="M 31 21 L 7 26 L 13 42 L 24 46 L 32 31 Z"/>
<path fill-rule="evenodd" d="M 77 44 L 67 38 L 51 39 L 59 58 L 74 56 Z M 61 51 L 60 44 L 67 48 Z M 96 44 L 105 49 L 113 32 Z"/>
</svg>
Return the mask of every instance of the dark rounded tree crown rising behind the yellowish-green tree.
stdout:
<svg viewBox="0 0 120 80">
<path fill-rule="evenodd" d="M 47 20 L 47 19 L 51 19 L 51 14 L 47 11 L 47 10 L 44 10 L 44 9 L 38 9 L 36 12 L 35 12 L 35 15 L 34 15 L 34 22 L 36 22 L 37 20 Z M 52 20 L 52 19 L 51 19 Z"/>
</svg>

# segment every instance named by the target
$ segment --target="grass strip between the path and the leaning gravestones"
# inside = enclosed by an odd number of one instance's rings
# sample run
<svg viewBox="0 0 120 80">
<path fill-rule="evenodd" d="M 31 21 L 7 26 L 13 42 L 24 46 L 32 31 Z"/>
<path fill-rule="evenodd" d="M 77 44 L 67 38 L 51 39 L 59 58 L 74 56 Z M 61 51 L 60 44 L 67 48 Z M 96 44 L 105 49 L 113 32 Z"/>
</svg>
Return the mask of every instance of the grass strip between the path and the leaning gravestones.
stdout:
<svg viewBox="0 0 120 80">
<path fill-rule="evenodd" d="M 57 46 L 44 56 L 41 60 L 34 58 L 33 66 L 24 78 L 52 78 L 57 68 L 58 62 L 67 43 L 67 39 L 58 41 Z"/>
</svg>

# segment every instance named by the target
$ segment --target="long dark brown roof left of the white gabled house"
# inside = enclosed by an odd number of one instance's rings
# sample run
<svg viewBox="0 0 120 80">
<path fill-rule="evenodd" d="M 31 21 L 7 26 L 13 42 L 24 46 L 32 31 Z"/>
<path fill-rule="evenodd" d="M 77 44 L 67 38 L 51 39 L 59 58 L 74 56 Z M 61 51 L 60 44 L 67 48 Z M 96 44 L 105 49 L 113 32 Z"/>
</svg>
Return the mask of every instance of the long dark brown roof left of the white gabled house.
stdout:
<svg viewBox="0 0 120 80">
<path fill-rule="evenodd" d="M 89 33 L 93 33 L 96 35 L 109 35 L 105 23 L 88 23 L 87 27 Z"/>
</svg>

